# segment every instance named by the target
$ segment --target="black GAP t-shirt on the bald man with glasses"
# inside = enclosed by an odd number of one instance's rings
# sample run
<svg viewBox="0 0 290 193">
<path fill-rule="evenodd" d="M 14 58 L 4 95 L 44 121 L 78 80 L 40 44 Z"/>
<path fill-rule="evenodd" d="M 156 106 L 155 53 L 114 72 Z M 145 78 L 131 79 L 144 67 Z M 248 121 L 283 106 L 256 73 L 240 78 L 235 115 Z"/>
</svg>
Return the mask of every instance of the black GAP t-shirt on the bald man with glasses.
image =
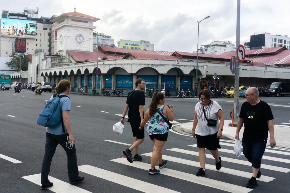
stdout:
<svg viewBox="0 0 290 193">
<path fill-rule="evenodd" d="M 244 102 L 239 117 L 244 119 L 244 141 L 257 143 L 267 140 L 269 130 L 267 121 L 274 119 L 269 104 L 262 100 L 256 105 Z"/>
</svg>

